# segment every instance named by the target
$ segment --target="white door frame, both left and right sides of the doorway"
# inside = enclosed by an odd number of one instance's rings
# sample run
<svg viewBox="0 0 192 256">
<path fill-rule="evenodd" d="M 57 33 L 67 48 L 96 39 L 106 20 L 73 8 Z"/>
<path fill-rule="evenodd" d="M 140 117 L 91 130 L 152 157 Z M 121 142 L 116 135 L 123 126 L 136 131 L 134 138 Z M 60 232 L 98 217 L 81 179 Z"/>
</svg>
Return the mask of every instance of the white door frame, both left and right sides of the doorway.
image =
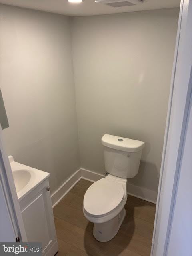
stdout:
<svg viewBox="0 0 192 256">
<path fill-rule="evenodd" d="M 181 0 L 151 256 L 166 256 L 192 84 L 192 0 Z M 0 183 L 12 226 L 27 242 L 12 171 L 0 129 Z"/>
</svg>

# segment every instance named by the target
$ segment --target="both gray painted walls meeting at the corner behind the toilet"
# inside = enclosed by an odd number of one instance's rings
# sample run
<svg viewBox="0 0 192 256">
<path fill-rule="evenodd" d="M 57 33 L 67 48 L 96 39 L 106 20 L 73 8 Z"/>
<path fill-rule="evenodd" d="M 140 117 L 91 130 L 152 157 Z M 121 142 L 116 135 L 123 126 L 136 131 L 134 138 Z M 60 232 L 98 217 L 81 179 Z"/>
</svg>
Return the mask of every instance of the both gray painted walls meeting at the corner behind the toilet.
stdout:
<svg viewBox="0 0 192 256">
<path fill-rule="evenodd" d="M 50 172 L 53 192 L 80 166 L 104 172 L 103 134 L 143 140 L 140 171 L 129 182 L 156 191 L 178 12 L 87 16 L 71 24 L 66 16 L 0 5 L 8 154 Z"/>
</svg>

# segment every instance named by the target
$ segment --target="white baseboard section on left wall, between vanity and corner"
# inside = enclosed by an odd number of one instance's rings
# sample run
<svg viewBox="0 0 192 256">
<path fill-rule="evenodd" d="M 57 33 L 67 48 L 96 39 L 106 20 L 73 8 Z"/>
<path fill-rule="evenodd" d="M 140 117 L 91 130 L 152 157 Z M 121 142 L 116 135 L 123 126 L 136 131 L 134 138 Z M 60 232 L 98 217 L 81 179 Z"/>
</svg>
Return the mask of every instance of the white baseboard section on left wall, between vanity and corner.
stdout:
<svg viewBox="0 0 192 256">
<path fill-rule="evenodd" d="M 51 194 L 52 207 L 56 206 L 60 200 L 82 179 L 81 169 L 77 170 L 68 178 L 56 191 Z"/>
</svg>

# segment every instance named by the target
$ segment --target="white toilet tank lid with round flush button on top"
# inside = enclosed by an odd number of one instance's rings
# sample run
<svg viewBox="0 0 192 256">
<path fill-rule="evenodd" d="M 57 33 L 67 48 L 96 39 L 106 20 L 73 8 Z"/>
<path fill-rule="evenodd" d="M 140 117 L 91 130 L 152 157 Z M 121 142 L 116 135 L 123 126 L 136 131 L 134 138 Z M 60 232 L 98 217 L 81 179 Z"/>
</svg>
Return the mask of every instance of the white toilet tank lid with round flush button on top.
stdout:
<svg viewBox="0 0 192 256">
<path fill-rule="evenodd" d="M 138 152 L 145 146 L 145 142 L 140 140 L 132 140 L 110 134 L 105 134 L 102 137 L 102 144 L 108 148 L 126 152 Z"/>
</svg>

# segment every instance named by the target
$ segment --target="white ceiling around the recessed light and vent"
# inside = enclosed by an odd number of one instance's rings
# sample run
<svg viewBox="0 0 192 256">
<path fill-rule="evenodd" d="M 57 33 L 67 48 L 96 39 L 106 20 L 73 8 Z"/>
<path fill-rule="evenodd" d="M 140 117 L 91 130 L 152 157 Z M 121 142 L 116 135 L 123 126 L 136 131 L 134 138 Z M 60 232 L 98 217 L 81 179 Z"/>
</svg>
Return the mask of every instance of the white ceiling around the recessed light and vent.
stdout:
<svg viewBox="0 0 192 256">
<path fill-rule="evenodd" d="M 126 7 L 112 7 L 104 4 L 96 4 L 94 0 L 83 0 L 80 4 L 71 4 L 68 3 L 67 0 L 0 0 L 0 3 L 69 16 L 135 12 L 180 6 L 180 0 L 147 0 L 136 6 Z"/>
</svg>

